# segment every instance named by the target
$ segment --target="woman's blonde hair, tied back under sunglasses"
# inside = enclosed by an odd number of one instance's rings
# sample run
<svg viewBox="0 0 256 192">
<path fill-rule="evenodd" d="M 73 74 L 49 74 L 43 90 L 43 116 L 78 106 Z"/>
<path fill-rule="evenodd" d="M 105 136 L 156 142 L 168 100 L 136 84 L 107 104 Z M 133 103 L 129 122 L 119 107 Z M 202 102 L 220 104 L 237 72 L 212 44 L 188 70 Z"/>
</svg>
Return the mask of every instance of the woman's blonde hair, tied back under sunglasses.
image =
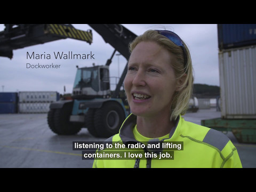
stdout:
<svg viewBox="0 0 256 192">
<path fill-rule="evenodd" d="M 175 120 L 179 115 L 184 115 L 186 113 L 189 99 L 193 93 L 193 67 L 188 47 L 182 41 L 187 54 L 187 63 L 184 65 L 184 57 L 181 47 L 175 45 L 169 38 L 158 34 L 155 30 L 147 30 L 144 34 L 135 38 L 134 41 L 130 43 L 130 53 L 133 51 L 135 46 L 142 41 L 156 42 L 166 50 L 170 51 L 175 56 L 175 59 L 173 60 L 174 62 L 172 62 L 172 67 L 174 69 L 176 80 L 178 81 L 180 78 L 185 76 L 185 81 L 183 81 L 183 84 L 179 86 L 178 91 L 174 93 L 172 99 L 170 121 Z"/>
</svg>

